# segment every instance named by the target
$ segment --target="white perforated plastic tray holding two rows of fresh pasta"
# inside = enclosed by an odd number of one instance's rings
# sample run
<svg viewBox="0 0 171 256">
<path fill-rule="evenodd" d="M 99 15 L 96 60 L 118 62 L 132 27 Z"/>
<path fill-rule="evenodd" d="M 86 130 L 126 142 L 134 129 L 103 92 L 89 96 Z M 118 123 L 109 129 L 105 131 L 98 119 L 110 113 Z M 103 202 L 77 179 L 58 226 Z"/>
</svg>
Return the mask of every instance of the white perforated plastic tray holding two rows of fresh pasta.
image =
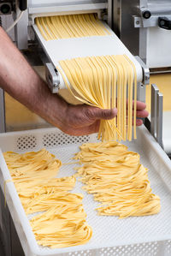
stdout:
<svg viewBox="0 0 171 256">
<path fill-rule="evenodd" d="M 62 163 L 68 163 L 78 146 L 86 141 L 96 141 L 96 135 L 72 137 L 62 134 L 57 128 L 38 129 L 24 132 L 0 134 L 0 147 L 3 152 L 28 152 L 45 147 L 56 154 Z M 13 182 L 6 184 L 6 200 L 15 223 L 21 245 L 26 255 L 170 255 L 171 254 L 171 162 L 156 140 L 146 128 L 138 128 L 138 140 L 124 143 L 131 151 L 139 152 L 141 163 L 149 168 L 149 178 L 153 193 L 161 198 L 161 212 L 154 216 L 99 217 L 94 210 L 97 203 L 92 196 L 81 190 L 76 183 L 74 192 L 84 194 L 83 204 L 87 222 L 93 229 L 91 241 L 83 246 L 50 249 L 39 247 L 28 218 L 22 208 Z M 74 173 L 74 164 L 62 167 L 59 176 Z M 9 180 L 9 170 L 0 152 L 0 182 L 4 192 L 4 181 Z"/>
</svg>

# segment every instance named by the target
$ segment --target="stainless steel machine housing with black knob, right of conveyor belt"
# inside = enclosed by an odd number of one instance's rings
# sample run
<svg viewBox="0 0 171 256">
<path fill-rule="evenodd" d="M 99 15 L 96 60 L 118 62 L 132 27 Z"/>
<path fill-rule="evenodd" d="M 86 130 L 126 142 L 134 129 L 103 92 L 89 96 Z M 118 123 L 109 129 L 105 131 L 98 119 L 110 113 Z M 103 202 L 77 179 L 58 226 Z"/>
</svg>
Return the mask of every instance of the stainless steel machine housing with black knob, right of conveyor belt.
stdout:
<svg viewBox="0 0 171 256">
<path fill-rule="evenodd" d="M 114 29 L 121 41 L 148 68 L 170 70 L 171 2 L 119 0 L 114 4 Z"/>
</svg>

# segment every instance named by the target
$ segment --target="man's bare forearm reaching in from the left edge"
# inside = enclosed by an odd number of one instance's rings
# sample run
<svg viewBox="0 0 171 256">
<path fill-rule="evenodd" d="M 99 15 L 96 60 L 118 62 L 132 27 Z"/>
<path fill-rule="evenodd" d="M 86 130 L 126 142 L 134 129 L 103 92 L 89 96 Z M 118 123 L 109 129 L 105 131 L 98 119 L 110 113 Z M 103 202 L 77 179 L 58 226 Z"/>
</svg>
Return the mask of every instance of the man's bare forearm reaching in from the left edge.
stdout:
<svg viewBox="0 0 171 256">
<path fill-rule="evenodd" d="M 25 104 L 30 110 L 44 117 L 53 116 L 52 108 L 56 104 L 54 123 L 60 127 L 60 115 L 67 103 L 53 95 L 44 80 L 27 63 L 21 52 L 15 47 L 8 35 L 0 27 L 0 86 L 12 97 Z M 57 118 L 58 117 L 58 118 Z M 50 118 L 51 119 L 51 118 Z M 47 120 L 48 121 L 48 120 Z M 50 120 L 51 122 L 51 120 Z"/>
</svg>

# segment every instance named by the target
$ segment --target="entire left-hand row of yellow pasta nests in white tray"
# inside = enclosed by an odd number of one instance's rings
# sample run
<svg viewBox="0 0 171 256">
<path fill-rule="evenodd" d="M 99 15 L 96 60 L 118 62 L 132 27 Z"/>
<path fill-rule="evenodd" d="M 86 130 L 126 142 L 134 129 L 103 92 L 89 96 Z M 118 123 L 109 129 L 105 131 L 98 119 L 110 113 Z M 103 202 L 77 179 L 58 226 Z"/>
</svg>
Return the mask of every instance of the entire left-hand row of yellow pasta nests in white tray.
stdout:
<svg viewBox="0 0 171 256">
<path fill-rule="evenodd" d="M 69 247 L 91 239 L 83 196 L 68 192 L 75 186 L 75 177 L 55 178 L 60 160 L 45 149 L 24 154 L 5 152 L 3 156 L 26 213 L 44 211 L 30 220 L 39 245 Z"/>
</svg>

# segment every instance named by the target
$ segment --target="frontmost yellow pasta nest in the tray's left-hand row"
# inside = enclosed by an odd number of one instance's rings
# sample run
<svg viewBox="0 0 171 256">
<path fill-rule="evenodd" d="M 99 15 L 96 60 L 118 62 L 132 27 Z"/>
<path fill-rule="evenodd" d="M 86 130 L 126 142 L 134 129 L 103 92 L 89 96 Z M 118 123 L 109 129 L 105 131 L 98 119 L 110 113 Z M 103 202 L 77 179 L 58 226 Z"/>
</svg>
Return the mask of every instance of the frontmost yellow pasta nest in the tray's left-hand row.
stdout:
<svg viewBox="0 0 171 256">
<path fill-rule="evenodd" d="M 81 201 L 74 205 L 56 205 L 43 214 L 32 217 L 32 230 L 39 245 L 71 247 L 91 239 L 92 229 L 85 222 Z"/>
</svg>

